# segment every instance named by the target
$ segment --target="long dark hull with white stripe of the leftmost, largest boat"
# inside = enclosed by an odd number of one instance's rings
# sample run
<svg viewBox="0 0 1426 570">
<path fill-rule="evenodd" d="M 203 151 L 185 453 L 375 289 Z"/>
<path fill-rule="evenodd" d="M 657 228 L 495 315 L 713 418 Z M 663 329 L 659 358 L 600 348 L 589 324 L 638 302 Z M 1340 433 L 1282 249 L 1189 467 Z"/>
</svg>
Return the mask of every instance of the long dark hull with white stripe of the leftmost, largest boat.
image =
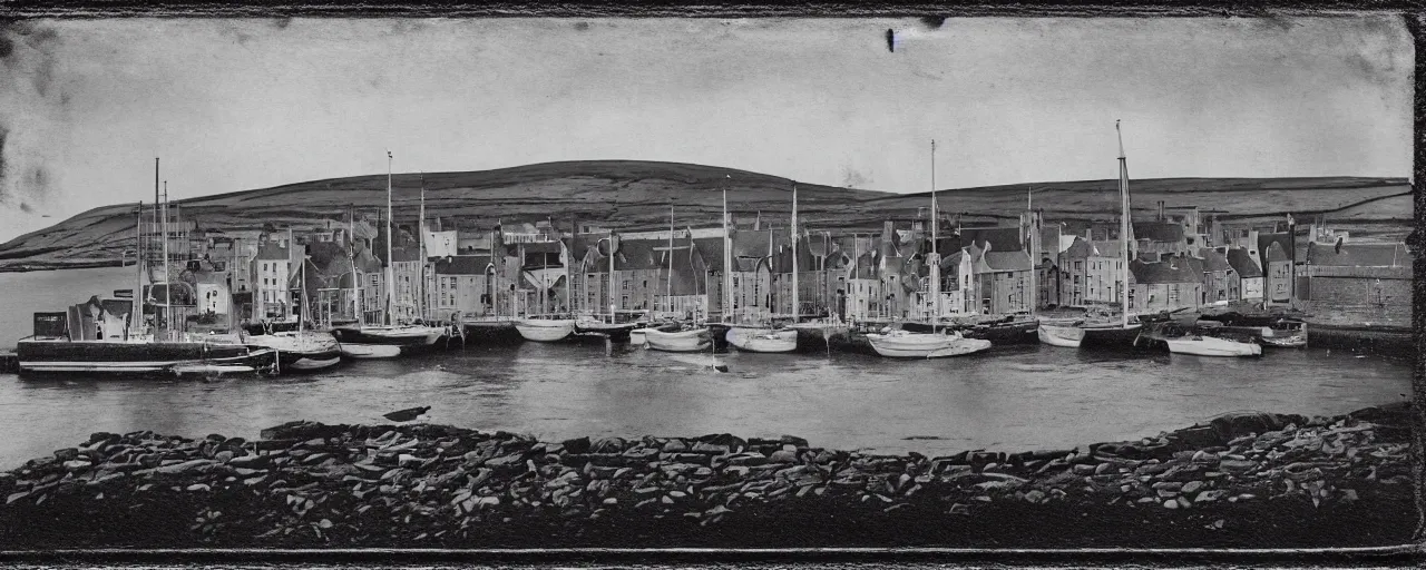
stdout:
<svg viewBox="0 0 1426 570">
<path fill-rule="evenodd" d="M 207 342 L 20 341 L 21 373 L 175 373 L 198 366 L 271 369 L 277 352 L 261 346 Z"/>
</svg>

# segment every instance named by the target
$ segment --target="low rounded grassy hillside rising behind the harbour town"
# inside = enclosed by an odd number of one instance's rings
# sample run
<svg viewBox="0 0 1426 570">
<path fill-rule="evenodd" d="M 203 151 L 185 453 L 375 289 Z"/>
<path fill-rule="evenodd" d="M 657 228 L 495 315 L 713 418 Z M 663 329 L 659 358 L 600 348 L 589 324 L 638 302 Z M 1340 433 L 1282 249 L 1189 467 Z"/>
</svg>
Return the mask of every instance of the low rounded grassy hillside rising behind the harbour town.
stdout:
<svg viewBox="0 0 1426 570">
<path fill-rule="evenodd" d="M 791 180 L 730 168 L 639 161 L 533 164 L 478 172 L 428 172 L 429 217 L 482 227 L 496 219 L 555 218 L 597 221 L 613 228 L 717 224 L 722 188 L 729 208 L 764 218 L 786 218 Z M 415 219 L 422 175 L 394 177 L 396 219 Z M 883 219 L 908 219 L 930 204 L 927 194 L 891 194 L 797 182 L 799 212 L 814 229 L 871 229 Z M 947 212 L 1012 218 L 1025 208 L 1027 188 L 1048 219 L 1107 218 L 1117 212 L 1118 181 L 1034 182 L 947 190 Z M 1305 217 L 1332 212 L 1333 222 L 1406 227 L 1410 187 L 1400 178 L 1164 178 L 1131 182 L 1135 217 L 1148 217 L 1158 201 L 1218 211 L 1221 219 Z M 175 201 L 185 219 L 205 229 L 255 229 L 271 222 L 305 228 L 345 221 L 348 207 L 375 214 L 386 204 L 386 177 L 366 175 L 288 184 Z M 113 265 L 133 247 L 134 205 L 90 209 L 50 228 L 0 245 L 0 271 Z M 984 218 L 977 218 L 984 219 Z"/>
</svg>

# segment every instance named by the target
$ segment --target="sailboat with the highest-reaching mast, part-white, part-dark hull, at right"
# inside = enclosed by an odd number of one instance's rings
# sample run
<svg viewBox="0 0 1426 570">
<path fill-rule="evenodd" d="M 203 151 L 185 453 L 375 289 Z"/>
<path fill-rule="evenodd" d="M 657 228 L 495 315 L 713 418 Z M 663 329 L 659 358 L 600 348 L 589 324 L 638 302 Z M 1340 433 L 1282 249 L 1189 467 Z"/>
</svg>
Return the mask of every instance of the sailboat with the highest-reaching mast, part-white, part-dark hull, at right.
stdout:
<svg viewBox="0 0 1426 570">
<path fill-rule="evenodd" d="M 1124 133 L 1114 121 L 1119 138 L 1119 242 L 1124 268 L 1119 274 L 1119 315 L 1114 318 L 1085 318 L 1071 323 L 1041 322 L 1040 341 L 1051 346 L 1079 348 L 1085 343 L 1129 346 L 1144 326 L 1129 314 L 1129 167 L 1124 155 Z"/>
</svg>

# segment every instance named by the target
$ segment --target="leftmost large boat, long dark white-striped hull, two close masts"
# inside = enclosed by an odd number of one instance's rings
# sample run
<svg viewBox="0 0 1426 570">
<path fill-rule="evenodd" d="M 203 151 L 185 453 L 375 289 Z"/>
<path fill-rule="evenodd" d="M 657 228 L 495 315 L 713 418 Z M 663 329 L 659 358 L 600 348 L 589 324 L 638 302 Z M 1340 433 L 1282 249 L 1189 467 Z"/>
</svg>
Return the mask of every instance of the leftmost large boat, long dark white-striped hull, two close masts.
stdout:
<svg viewBox="0 0 1426 570">
<path fill-rule="evenodd" d="M 165 192 L 167 194 L 167 192 Z M 165 197 L 167 198 L 167 197 Z M 163 237 L 164 304 L 154 306 L 154 329 L 144 325 L 144 247 L 143 202 L 135 214 L 134 291 L 128 302 L 123 299 L 91 298 L 71 305 L 66 312 L 34 314 L 33 335 L 16 343 L 16 359 L 21 373 L 251 373 L 272 370 L 277 351 L 230 342 L 215 335 L 191 335 L 173 328 L 168 272 L 168 221 L 158 201 L 158 160 L 154 160 L 154 231 Z M 150 295 L 158 284 L 150 276 Z M 116 295 L 117 296 L 117 295 Z M 127 305 L 127 306 L 125 306 Z M 158 323 L 163 306 L 164 319 Z"/>
</svg>

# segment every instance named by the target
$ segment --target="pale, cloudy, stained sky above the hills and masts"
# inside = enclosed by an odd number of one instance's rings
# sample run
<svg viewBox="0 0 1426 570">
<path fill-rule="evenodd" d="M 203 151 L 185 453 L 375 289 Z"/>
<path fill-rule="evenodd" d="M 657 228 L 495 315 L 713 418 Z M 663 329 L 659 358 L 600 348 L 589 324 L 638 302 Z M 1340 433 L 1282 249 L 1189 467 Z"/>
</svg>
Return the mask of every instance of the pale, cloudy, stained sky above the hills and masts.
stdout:
<svg viewBox="0 0 1426 570">
<path fill-rule="evenodd" d="M 894 50 L 887 30 L 894 31 Z M 1410 177 L 1395 16 L 34 20 L 0 28 L 0 241 L 100 205 L 569 160 L 935 184 Z"/>
</svg>

